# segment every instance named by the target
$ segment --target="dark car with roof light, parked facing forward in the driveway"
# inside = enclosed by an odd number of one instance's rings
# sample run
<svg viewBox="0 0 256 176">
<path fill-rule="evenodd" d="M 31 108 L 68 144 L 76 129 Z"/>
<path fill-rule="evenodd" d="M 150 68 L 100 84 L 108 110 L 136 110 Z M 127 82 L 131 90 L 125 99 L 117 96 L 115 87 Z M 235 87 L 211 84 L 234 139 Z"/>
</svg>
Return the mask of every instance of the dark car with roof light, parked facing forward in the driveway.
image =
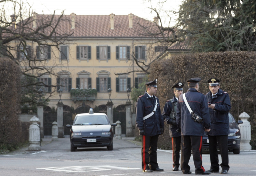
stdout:
<svg viewBox="0 0 256 176">
<path fill-rule="evenodd" d="M 113 131 L 105 113 L 94 113 L 90 108 L 89 113 L 77 114 L 73 125 L 66 125 L 70 129 L 70 151 L 77 147 L 104 147 L 113 150 Z"/>
</svg>

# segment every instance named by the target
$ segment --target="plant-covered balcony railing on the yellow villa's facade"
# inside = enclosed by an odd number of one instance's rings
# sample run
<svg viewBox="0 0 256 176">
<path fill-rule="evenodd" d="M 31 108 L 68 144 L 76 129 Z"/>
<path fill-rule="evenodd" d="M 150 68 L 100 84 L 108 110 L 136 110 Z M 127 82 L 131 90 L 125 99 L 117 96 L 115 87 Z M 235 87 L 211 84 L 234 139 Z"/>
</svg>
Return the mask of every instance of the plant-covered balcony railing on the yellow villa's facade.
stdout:
<svg viewBox="0 0 256 176">
<path fill-rule="evenodd" d="M 96 89 L 74 89 L 70 90 L 72 100 L 95 100 L 97 96 Z"/>
</svg>

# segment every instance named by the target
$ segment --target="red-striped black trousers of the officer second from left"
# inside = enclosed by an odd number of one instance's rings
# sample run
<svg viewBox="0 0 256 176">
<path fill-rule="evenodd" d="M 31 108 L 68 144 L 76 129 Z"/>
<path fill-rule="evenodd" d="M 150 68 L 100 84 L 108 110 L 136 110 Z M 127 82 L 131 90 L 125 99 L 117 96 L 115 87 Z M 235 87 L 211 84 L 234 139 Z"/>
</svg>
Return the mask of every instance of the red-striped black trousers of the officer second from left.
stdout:
<svg viewBox="0 0 256 176">
<path fill-rule="evenodd" d="M 171 142 L 173 143 L 173 167 L 179 167 L 179 150 L 181 149 L 181 136 L 172 137 Z"/>
</svg>

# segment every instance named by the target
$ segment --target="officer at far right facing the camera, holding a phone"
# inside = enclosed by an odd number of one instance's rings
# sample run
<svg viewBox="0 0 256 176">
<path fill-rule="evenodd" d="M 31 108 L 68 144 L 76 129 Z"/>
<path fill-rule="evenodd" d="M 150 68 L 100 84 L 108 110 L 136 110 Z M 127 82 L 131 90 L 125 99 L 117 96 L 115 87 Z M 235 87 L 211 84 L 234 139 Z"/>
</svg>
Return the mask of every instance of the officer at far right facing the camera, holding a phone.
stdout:
<svg viewBox="0 0 256 176">
<path fill-rule="evenodd" d="M 210 91 L 205 95 L 211 117 L 211 131 L 207 133 L 209 138 L 209 152 L 211 167 L 208 171 L 219 172 L 218 148 L 221 153 L 221 174 L 229 171 L 229 149 L 227 136 L 229 134 L 229 111 L 231 103 L 229 94 L 219 89 L 221 82 L 217 78 L 208 81 Z"/>
</svg>

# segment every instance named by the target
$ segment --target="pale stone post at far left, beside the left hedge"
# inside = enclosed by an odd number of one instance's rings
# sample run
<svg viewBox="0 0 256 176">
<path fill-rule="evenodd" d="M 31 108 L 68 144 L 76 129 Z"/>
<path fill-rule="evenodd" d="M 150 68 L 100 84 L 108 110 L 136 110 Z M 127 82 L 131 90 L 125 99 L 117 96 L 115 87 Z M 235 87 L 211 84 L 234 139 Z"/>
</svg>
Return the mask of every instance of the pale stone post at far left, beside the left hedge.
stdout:
<svg viewBox="0 0 256 176">
<path fill-rule="evenodd" d="M 40 128 L 38 125 L 39 119 L 37 117 L 32 117 L 30 119 L 29 126 L 29 151 L 41 150 L 40 146 Z"/>
</svg>

